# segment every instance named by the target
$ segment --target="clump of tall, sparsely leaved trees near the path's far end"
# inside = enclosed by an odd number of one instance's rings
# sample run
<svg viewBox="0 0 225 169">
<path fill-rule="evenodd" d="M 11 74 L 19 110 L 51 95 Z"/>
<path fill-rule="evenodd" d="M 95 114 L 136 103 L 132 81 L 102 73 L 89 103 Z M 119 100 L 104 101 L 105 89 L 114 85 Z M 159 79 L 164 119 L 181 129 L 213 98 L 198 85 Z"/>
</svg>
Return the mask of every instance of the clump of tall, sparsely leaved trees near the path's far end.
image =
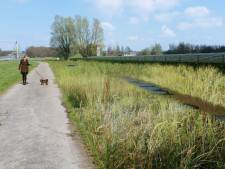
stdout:
<svg viewBox="0 0 225 169">
<path fill-rule="evenodd" d="M 51 35 L 51 47 L 57 48 L 65 59 L 76 53 L 83 57 L 94 56 L 97 48 L 104 46 L 103 28 L 98 19 L 90 25 L 86 17 L 56 16 Z"/>
</svg>

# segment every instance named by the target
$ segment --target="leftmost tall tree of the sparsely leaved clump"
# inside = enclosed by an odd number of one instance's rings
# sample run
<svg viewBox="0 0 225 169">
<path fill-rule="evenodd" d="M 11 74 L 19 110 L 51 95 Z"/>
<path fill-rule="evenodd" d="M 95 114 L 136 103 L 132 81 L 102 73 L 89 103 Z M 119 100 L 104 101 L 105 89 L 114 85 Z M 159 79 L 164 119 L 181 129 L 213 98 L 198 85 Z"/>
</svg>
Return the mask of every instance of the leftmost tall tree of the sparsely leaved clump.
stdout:
<svg viewBox="0 0 225 169">
<path fill-rule="evenodd" d="M 74 20 L 71 17 L 56 16 L 52 24 L 51 46 L 58 48 L 64 59 L 71 54 L 71 47 L 76 42 Z"/>
</svg>

